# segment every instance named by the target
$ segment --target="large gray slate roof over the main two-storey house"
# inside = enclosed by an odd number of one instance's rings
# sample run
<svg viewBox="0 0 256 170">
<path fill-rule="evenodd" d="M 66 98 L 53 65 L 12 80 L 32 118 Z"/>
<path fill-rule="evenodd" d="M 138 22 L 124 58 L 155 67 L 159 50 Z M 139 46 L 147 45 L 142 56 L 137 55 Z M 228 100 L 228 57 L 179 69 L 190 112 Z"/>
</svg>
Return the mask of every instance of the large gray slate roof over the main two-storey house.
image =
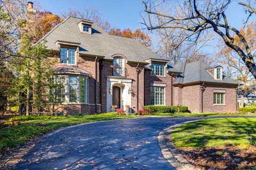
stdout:
<svg viewBox="0 0 256 170">
<path fill-rule="evenodd" d="M 46 40 L 45 45 L 51 50 L 59 50 L 55 44 L 57 40 L 70 41 L 81 43 L 79 45 L 81 54 L 103 56 L 106 59 L 113 59 L 111 56 L 114 54 L 122 54 L 128 61 L 142 63 L 145 63 L 148 58 L 159 60 L 156 54 L 136 39 L 109 35 L 95 24 L 92 24 L 92 35 L 81 33 L 77 24 L 81 20 L 83 19 L 69 16 L 41 40 Z"/>
</svg>

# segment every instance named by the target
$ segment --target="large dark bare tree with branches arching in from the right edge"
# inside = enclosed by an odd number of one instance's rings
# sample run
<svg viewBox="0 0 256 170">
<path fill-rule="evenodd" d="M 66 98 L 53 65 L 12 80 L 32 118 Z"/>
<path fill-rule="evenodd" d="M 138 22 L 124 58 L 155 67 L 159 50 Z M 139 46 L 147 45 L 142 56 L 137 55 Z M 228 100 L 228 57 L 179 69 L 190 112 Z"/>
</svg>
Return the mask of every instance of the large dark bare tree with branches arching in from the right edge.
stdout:
<svg viewBox="0 0 256 170">
<path fill-rule="evenodd" d="M 205 31 L 212 30 L 222 38 L 229 48 L 235 50 L 252 73 L 253 77 L 256 78 L 256 65 L 253 60 L 254 54 L 252 54 L 251 47 L 242 33 L 228 24 L 228 19 L 225 15 L 227 7 L 231 2 L 234 1 L 185 0 L 183 1 L 183 4 L 178 4 L 182 11 L 182 15 L 177 16 L 157 11 L 151 0 L 145 0 L 143 1 L 143 4 L 145 5 L 145 12 L 148 14 L 149 21 L 144 22 L 143 24 L 147 26 L 148 30 L 172 28 L 188 32 L 188 35 L 181 37 L 180 43 L 186 40 L 196 43 Z M 250 1 L 239 2 L 239 4 L 246 7 L 251 15 L 256 14 L 253 3 Z M 249 14 L 248 17 L 251 15 Z M 156 16 L 164 17 L 166 22 L 163 24 L 152 24 L 151 18 Z M 241 44 L 235 44 L 236 39 L 231 32 L 234 32 L 235 35 L 239 37 L 239 40 L 242 42 Z"/>
</svg>

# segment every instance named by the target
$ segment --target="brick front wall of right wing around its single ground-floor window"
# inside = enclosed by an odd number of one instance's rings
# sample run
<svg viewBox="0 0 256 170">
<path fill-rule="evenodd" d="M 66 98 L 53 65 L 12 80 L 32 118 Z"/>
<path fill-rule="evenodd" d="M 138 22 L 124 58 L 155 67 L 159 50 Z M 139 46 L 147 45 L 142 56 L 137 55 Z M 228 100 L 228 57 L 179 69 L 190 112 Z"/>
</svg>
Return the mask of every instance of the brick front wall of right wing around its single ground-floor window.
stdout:
<svg viewBox="0 0 256 170">
<path fill-rule="evenodd" d="M 236 91 L 235 87 L 205 85 L 203 92 L 203 112 L 236 112 Z M 226 90 L 226 106 L 213 105 L 213 90 Z"/>
</svg>

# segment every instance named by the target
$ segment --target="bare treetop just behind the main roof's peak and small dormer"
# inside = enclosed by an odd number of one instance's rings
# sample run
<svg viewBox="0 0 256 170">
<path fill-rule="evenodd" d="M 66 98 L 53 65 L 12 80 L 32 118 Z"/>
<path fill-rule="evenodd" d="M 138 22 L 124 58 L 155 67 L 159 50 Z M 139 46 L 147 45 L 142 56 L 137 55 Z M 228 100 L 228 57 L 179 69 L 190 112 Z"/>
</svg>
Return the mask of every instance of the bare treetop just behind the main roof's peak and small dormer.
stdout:
<svg viewBox="0 0 256 170">
<path fill-rule="evenodd" d="M 110 30 L 110 23 L 108 21 L 103 20 L 100 17 L 99 11 L 95 10 L 94 8 L 86 8 L 83 11 L 69 9 L 69 12 L 65 12 L 62 14 L 63 18 L 67 18 L 68 16 L 74 16 L 78 18 L 83 18 L 85 20 L 91 20 L 103 30 L 107 32 Z"/>
</svg>

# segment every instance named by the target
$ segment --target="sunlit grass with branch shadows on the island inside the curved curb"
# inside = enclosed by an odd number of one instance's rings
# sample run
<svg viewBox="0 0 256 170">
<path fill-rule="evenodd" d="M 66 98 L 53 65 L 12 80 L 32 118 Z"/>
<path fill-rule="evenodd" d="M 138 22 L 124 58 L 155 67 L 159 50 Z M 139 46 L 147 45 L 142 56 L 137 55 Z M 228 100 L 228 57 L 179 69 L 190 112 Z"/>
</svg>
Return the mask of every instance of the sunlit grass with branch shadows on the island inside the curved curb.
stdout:
<svg viewBox="0 0 256 170">
<path fill-rule="evenodd" d="M 256 118 L 215 118 L 181 125 L 171 138 L 179 148 L 256 145 Z"/>
</svg>

